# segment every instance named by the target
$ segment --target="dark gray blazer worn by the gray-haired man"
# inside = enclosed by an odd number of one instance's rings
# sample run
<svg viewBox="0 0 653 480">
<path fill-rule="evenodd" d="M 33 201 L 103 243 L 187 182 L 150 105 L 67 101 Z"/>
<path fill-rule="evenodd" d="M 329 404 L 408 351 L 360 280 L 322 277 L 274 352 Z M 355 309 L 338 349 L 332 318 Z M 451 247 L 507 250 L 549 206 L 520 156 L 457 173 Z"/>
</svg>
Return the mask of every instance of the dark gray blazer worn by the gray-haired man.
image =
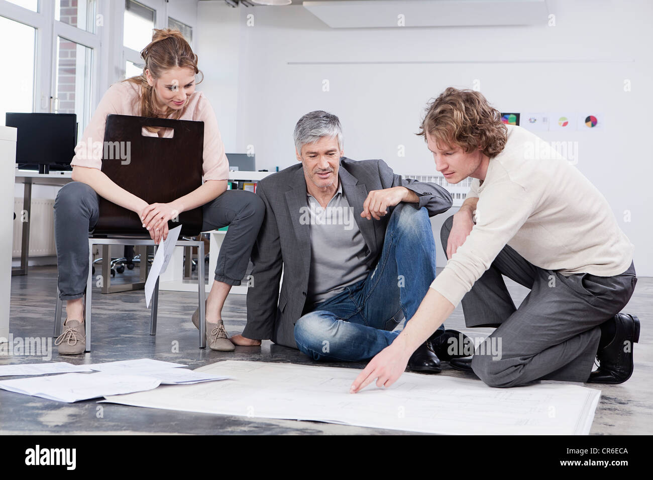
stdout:
<svg viewBox="0 0 653 480">
<path fill-rule="evenodd" d="M 355 161 L 342 157 L 338 177 L 365 240 L 367 255 L 363 261 L 370 269 L 381 255 L 385 229 L 394 208 L 380 220 L 360 217 L 369 191 L 402 185 L 417 193 L 419 208 L 426 207 L 430 217 L 451 208 L 451 195 L 446 189 L 403 179 L 383 160 Z M 251 254 L 253 285 L 247 290 L 247 325 L 242 334 L 297 348 L 295 322 L 306 306 L 311 259 L 310 225 L 300 223 L 300 208 L 307 205 L 302 165 L 298 163 L 264 178 L 256 193 L 265 204 L 265 217 Z M 282 267 L 283 285 L 279 293 Z"/>
</svg>

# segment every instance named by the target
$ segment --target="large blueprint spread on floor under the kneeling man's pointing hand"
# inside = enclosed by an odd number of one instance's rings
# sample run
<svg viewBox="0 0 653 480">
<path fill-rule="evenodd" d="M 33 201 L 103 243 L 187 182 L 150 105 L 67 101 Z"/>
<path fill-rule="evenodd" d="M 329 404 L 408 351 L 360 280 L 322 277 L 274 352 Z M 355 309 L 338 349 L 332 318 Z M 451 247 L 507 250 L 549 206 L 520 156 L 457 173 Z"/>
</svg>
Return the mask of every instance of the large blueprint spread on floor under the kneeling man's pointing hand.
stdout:
<svg viewBox="0 0 653 480">
<path fill-rule="evenodd" d="M 109 396 L 108 402 L 438 434 L 588 434 L 600 391 L 543 383 L 497 389 L 477 379 L 404 373 L 389 389 L 349 393 L 360 370 L 227 360 L 198 372 L 234 379 Z"/>
</svg>

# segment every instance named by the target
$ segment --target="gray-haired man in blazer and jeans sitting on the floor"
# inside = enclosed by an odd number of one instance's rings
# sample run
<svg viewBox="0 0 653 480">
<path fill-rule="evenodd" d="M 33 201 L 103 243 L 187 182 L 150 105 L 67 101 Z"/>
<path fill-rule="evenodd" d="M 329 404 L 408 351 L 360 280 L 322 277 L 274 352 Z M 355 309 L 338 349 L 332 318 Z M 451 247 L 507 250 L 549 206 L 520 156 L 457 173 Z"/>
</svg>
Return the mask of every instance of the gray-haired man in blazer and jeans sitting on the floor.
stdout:
<svg viewBox="0 0 653 480">
<path fill-rule="evenodd" d="M 257 186 L 266 212 L 247 325 L 232 341 L 271 338 L 313 360 L 370 359 L 396 338 L 392 330 L 414 315 L 436 276 L 428 217 L 449 210 L 451 195 L 402 179 L 383 160 L 343 157 L 340 121 L 327 112 L 298 121 L 295 148 L 301 164 Z M 458 332 L 441 327 L 409 368 L 439 372 L 451 336 Z"/>
</svg>

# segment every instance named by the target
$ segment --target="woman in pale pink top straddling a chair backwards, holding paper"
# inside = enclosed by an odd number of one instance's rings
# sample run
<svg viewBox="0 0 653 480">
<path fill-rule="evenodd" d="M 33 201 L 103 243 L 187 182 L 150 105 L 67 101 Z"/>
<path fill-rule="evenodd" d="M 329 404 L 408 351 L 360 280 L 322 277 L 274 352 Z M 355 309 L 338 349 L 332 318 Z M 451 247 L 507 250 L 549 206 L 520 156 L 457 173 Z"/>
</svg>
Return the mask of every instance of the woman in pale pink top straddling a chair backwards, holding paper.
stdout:
<svg viewBox="0 0 653 480">
<path fill-rule="evenodd" d="M 155 29 L 152 41 L 140 55 L 145 61 L 143 73 L 113 84 L 97 106 L 71 161 L 73 182 L 61 188 L 54 204 L 59 298 L 67 302 L 64 332 L 56 340 L 61 355 L 84 352 L 82 297 L 89 268 L 88 232 L 97 223 L 98 195 L 138 214 L 157 244 L 167 238 L 168 220 L 199 206 L 204 213 L 202 231 L 229 225 L 206 299 L 206 339 L 211 349 L 234 349 L 227 338 L 221 310 L 231 286 L 240 285 L 245 276 L 263 221 L 263 201 L 249 191 L 227 190 L 229 163 L 225 148 L 211 104 L 202 92 L 195 91 L 197 55 L 182 33 Z M 89 158 L 84 148 L 86 142 L 103 142 L 108 114 L 204 121 L 203 184 L 173 202 L 153 204 L 116 185 L 101 171 L 101 152 L 93 152 Z M 150 136 L 170 136 L 165 129 L 148 129 Z M 196 311 L 196 327 L 198 317 Z"/>
</svg>

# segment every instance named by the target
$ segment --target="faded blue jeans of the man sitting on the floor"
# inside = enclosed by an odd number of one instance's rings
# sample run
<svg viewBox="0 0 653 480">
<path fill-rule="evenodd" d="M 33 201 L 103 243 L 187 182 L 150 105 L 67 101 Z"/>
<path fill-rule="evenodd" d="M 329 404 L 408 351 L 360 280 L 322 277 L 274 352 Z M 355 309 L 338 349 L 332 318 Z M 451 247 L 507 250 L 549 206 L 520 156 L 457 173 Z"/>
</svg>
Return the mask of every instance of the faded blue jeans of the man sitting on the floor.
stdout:
<svg viewBox="0 0 653 480">
<path fill-rule="evenodd" d="M 407 322 L 415 315 L 434 278 L 436 244 L 428 212 L 400 203 L 374 270 L 300 317 L 297 347 L 313 360 L 371 359 L 398 336 L 392 330 L 402 318 Z"/>
</svg>

